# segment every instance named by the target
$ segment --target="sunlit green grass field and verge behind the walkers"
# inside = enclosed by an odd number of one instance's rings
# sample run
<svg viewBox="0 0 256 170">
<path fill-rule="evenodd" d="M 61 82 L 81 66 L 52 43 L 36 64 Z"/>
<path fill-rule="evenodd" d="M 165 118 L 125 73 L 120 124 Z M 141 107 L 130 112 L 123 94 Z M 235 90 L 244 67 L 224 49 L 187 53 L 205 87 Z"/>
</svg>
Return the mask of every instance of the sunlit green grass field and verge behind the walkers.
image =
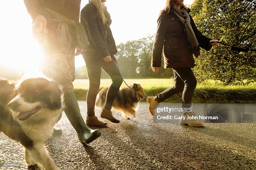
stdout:
<svg viewBox="0 0 256 170">
<path fill-rule="evenodd" d="M 147 96 L 155 96 L 174 83 L 173 79 L 124 79 L 129 85 L 140 83 Z M 78 79 L 73 82 L 78 100 L 85 100 L 89 88 L 88 79 Z M 101 79 L 101 90 L 111 85 L 110 79 Z M 126 86 L 124 83 L 122 86 Z M 182 93 L 168 98 L 165 102 L 181 103 Z M 145 99 L 143 101 L 146 101 Z M 193 103 L 255 103 L 256 83 L 247 85 L 223 85 L 221 82 L 208 80 L 198 83 L 195 89 Z"/>
</svg>

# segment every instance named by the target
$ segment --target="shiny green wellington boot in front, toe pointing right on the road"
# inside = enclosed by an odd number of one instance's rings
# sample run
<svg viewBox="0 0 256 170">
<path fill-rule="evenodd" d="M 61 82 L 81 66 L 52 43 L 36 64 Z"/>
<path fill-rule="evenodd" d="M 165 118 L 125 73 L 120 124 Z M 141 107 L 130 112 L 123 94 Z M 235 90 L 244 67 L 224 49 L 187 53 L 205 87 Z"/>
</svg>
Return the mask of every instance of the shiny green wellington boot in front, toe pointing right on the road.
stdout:
<svg viewBox="0 0 256 170">
<path fill-rule="evenodd" d="M 74 129 L 77 131 L 79 141 L 82 144 L 88 144 L 100 137 L 101 132 L 99 129 L 90 129 L 84 123 L 74 91 L 68 91 L 67 93 L 64 93 L 64 101 L 64 112 Z"/>
</svg>

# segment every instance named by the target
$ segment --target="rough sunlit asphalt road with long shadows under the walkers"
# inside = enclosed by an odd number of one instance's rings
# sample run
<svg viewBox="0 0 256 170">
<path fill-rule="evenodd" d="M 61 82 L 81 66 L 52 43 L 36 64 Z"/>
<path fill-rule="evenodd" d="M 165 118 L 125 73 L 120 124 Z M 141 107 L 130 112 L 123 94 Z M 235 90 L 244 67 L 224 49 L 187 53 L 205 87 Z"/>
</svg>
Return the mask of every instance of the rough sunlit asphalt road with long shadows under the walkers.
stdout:
<svg viewBox="0 0 256 170">
<path fill-rule="evenodd" d="M 79 101 L 86 118 L 86 102 Z M 140 103 L 137 119 L 125 120 L 116 111 L 119 124 L 106 121 L 102 135 L 88 146 L 77 139 L 65 114 L 56 124 L 61 135 L 48 139 L 49 153 L 60 169 L 256 169 L 256 123 L 205 123 L 189 127 L 179 123 L 156 123 Z M 255 107 L 254 107 L 255 108 Z M 254 108 L 250 108 L 252 111 Z M 96 110 L 99 117 L 100 110 Z M 99 118 L 102 120 L 101 118 Z M 27 167 L 20 143 L 0 133 L 0 163 Z"/>
</svg>

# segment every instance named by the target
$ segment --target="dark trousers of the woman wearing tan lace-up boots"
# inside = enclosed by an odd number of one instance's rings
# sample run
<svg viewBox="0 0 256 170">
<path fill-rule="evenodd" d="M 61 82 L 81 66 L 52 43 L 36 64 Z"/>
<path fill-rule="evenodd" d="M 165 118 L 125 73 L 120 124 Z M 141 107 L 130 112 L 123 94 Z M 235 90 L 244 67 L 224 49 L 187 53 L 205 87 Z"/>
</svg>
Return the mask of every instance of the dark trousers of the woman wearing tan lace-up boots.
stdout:
<svg viewBox="0 0 256 170">
<path fill-rule="evenodd" d="M 167 88 L 156 96 L 157 102 L 163 102 L 167 98 L 180 93 L 182 94 L 182 107 L 190 108 L 196 88 L 197 80 L 191 68 L 173 69 L 174 85 Z"/>
</svg>

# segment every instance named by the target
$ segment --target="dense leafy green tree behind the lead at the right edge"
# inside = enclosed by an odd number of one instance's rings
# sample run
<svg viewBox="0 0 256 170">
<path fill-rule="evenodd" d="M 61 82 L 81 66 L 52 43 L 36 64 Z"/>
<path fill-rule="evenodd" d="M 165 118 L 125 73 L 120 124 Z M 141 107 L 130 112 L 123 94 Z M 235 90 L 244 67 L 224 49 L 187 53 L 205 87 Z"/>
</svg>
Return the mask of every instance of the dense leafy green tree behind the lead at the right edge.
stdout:
<svg viewBox="0 0 256 170">
<path fill-rule="evenodd" d="M 226 44 L 256 48 L 255 0 L 195 0 L 190 14 L 204 35 Z M 227 48 L 201 50 L 195 73 L 199 81 L 225 83 L 256 80 L 255 52 L 237 52 Z"/>
</svg>

